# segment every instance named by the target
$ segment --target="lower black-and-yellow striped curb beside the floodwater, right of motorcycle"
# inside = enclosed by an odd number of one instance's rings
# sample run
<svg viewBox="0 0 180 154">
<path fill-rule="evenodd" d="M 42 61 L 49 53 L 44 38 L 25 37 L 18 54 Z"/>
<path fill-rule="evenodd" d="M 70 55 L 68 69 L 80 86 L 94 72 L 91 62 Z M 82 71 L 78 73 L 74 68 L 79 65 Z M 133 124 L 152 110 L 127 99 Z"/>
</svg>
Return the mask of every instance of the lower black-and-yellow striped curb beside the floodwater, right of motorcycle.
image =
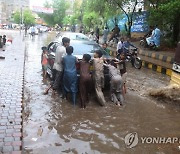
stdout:
<svg viewBox="0 0 180 154">
<path fill-rule="evenodd" d="M 148 69 L 152 69 L 153 71 L 168 75 L 168 76 L 171 76 L 171 74 L 172 74 L 171 69 L 165 68 L 165 67 L 162 67 L 162 66 L 159 66 L 156 64 L 152 64 L 152 63 L 149 63 L 146 61 L 142 61 L 142 66 L 145 68 L 148 68 Z"/>
</svg>

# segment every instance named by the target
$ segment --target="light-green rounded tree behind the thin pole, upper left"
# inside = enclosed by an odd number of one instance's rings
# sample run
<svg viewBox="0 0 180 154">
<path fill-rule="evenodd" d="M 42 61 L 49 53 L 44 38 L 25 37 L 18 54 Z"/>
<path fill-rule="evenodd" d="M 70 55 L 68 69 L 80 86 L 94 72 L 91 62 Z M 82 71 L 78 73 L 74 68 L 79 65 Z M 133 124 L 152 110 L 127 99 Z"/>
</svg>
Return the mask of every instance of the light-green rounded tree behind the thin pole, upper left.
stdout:
<svg viewBox="0 0 180 154">
<path fill-rule="evenodd" d="M 26 26 L 35 23 L 35 17 L 32 14 L 31 10 L 28 9 L 24 10 L 22 12 L 22 15 L 20 11 L 16 11 L 13 18 L 16 23 L 20 24 L 23 21 L 23 24 L 25 24 Z"/>
</svg>

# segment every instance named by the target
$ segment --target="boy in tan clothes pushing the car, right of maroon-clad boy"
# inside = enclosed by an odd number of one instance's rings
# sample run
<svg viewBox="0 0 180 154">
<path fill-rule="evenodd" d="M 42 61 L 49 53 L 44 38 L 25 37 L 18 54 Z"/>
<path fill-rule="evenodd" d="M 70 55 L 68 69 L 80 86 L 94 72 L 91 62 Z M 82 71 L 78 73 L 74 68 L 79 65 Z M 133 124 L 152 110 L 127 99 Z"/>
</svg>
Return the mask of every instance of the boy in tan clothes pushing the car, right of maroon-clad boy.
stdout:
<svg viewBox="0 0 180 154">
<path fill-rule="evenodd" d="M 94 59 L 93 59 L 93 79 L 95 84 L 95 91 L 97 99 L 101 106 L 105 106 L 106 101 L 104 98 L 104 94 L 102 92 L 102 88 L 104 88 L 104 66 L 103 66 L 103 58 L 102 52 L 100 50 L 95 51 Z"/>
</svg>

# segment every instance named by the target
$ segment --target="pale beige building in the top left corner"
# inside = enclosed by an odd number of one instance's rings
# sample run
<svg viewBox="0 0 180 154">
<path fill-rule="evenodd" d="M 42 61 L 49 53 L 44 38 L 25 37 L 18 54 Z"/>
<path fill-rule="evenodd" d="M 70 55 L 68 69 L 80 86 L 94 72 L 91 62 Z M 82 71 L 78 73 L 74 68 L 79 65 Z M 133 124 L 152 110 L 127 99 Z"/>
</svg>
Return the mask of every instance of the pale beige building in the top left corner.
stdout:
<svg viewBox="0 0 180 154">
<path fill-rule="evenodd" d="M 0 0 L 0 24 L 9 24 L 17 10 L 29 8 L 30 0 Z"/>
</svg>

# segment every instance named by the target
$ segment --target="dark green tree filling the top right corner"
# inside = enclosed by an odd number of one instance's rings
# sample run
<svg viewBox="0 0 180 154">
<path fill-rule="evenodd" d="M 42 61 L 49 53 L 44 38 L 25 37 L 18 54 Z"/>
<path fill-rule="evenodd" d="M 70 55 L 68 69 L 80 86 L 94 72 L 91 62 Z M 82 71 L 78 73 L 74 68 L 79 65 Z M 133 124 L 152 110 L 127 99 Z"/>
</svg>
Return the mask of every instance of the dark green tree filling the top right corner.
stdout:
<svg viewBox="0 0 180 154">
<path fill-rule="evenodd" d="M 149 0 L 149 24 L 158 25 L 163 31 L 168 32 L 168 38 L 176 44 L 180 38 L 180 1 L 179 0 Z"/>
</svg>

